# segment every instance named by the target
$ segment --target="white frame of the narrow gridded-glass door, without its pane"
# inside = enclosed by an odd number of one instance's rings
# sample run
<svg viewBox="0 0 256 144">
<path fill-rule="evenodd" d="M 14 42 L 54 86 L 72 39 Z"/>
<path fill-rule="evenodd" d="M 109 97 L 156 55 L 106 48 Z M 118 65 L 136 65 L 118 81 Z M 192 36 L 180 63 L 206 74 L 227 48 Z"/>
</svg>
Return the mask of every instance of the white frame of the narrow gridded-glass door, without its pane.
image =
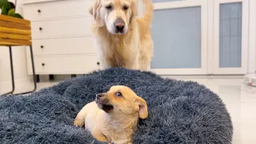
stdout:
<svg viewBox="0 0 256 144">
<path fill-rule="evenodd" d="M 219 11 L 220 5 L 242 2 L 242 56 L 241 67 L 219 67 Z M 213 74 L 246 74 L 248 67 L 248 28 L 249 2 L 248 0 L 214 0 L 214 70 Z"/>
</svg>

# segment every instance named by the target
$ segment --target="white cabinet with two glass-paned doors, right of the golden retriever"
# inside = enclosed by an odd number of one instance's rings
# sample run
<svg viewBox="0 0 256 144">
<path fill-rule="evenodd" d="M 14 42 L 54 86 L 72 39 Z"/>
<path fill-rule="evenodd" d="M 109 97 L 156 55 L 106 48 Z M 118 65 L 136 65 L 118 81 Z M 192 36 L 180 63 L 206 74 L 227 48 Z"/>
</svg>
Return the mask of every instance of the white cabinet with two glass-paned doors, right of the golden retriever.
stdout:
<svg viewBox="0 0 256 144">
<path fill-rule="evenodd" d="M 256 70 L 254 0 L 153 2 L 152 71 L 246 74 Z"/>
</svg>

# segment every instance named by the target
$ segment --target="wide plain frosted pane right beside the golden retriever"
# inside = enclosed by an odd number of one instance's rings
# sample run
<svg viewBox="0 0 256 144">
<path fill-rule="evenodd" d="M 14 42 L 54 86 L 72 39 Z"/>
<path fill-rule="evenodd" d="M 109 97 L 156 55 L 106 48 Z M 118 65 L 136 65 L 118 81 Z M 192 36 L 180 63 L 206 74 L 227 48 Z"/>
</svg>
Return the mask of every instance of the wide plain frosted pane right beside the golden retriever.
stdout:
<svg viewBox="0 0 256 144">
<path fill-rule="evenodd" d="M 201 68 L 201 7 L 155 10 L 153 69 Z"/>
</svg>

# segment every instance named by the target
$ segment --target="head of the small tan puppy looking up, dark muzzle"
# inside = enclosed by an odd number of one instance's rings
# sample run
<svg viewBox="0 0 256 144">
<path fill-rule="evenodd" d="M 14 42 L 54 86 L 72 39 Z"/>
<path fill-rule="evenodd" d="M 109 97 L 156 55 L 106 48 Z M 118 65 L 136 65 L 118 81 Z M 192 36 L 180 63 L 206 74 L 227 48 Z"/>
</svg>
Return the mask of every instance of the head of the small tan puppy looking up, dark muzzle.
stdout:
<svg viewBox="0 0 256 144">
<path fill-rule="evenodd" d="M 127 86 L 112 86 L 107 93 L 97 94 L 95 101 L 99 109 L 111 115 L 138 114 L 142 119 L 148 116 L 146 101 Z"/>
</svg>

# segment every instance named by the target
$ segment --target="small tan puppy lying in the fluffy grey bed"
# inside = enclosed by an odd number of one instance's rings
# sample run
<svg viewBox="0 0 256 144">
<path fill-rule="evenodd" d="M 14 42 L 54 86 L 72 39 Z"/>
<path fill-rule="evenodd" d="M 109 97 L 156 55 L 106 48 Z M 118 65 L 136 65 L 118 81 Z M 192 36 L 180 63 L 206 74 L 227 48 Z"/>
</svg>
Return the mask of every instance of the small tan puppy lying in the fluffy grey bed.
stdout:
<svg viewBox="0 0 256 144">
<path fill-rule="evenodd" d="M 95 102 L 82 108 L 74 126 L 85 126 L 98 141 L 114 144 L 132 143 L 138 118 L 147 118 L 146 101 L 126 86 L 112 86 L 97 94 Z"/>
</svg>

